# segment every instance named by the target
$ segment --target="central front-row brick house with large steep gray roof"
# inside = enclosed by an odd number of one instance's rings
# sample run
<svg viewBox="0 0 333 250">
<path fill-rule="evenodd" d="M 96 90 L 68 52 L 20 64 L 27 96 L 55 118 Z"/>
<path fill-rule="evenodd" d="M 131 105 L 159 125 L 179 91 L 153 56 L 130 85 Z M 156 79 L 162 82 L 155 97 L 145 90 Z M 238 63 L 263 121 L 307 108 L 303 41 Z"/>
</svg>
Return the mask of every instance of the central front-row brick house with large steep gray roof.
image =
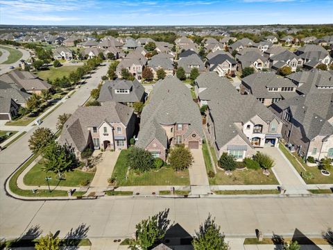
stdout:
<svg viewBox="0 0 333 250">
<path fill-rule="evenodd" d="M 174 76 L 157 81 L 142 111 L 136 146 L 166 160 L 169 147 L 200 149 L 203 138 L 202 118 L 189 88 Z"/>
</svg>

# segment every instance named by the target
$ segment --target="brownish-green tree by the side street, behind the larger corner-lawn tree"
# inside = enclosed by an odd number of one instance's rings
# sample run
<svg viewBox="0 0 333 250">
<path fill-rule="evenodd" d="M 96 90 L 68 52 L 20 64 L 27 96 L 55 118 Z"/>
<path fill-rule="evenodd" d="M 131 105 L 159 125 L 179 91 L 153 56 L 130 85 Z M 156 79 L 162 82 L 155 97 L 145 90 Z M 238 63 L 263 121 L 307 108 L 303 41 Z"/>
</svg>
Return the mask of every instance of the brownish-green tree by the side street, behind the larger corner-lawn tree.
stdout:
<svg viewBox="0 0 333 250">
<path fill-rule="evenodd" d="M 50 128 L 37 128 L 29 139 L 29 149 L 33 153 L 38 153 L 54 140 L 54 134 Z"/>
</svg>

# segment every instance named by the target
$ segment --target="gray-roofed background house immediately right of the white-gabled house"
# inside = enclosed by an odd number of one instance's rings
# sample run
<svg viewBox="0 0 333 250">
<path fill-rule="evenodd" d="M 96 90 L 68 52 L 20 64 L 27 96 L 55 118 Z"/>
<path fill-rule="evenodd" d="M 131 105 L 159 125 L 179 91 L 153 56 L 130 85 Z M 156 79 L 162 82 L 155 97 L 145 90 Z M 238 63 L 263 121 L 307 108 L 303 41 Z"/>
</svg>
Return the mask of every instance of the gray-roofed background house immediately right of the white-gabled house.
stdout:
<svg viewBox="0 0 333 250">
<path fill-rule="evenodd" d="M 255 70 L 268 69 L 269 67 L 267 58 L 256 51 L 249 51 L 242 56 L 237 56 L 237 60 L 241 65 L 241 70 L 245 67 L 253 67 Z"/>
</svg>

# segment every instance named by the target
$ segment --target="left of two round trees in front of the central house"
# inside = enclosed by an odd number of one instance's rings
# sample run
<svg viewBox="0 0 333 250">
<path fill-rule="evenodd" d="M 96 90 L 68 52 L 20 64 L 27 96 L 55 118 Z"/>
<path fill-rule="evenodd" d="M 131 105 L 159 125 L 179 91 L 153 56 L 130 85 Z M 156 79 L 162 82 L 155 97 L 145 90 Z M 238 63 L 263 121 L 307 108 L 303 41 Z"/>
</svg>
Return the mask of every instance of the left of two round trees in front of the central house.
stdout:
<svg viewBox="0 0 333 250">
<path fill-rule="evenodd" d="M 154 158 L 149 151 L 131 147 L 128 150 L 127 164 L 135 172 L 147 172 L 154 167 Z"/>
</svg>

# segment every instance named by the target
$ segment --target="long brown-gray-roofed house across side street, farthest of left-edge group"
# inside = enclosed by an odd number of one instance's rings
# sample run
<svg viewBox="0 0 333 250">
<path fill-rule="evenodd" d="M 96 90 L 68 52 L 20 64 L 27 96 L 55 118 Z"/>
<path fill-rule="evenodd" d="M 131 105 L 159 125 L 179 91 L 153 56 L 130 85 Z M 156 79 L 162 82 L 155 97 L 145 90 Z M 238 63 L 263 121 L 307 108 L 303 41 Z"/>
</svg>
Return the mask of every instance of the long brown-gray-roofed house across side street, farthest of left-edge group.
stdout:
<svg viewBox="0 0 333 250">
<path fill-rule="evenodd" d="M 3 74 L 2 76 L 0 76 L 0 81 L 3 81 L 10 85 L 16 85 L 19 90 L 31 94 L 41 94 L 42 90 L 49 90 L 52 87 L 51 84 L 46 83 L 46 81 L 38 78 L 37 74 L 19 70 L 15 70 L 8 74 Z M 17 102 L 15 98 L 12 99 Z M 22 105 L 21 101 L 17 103 Z"/>
</svg>

